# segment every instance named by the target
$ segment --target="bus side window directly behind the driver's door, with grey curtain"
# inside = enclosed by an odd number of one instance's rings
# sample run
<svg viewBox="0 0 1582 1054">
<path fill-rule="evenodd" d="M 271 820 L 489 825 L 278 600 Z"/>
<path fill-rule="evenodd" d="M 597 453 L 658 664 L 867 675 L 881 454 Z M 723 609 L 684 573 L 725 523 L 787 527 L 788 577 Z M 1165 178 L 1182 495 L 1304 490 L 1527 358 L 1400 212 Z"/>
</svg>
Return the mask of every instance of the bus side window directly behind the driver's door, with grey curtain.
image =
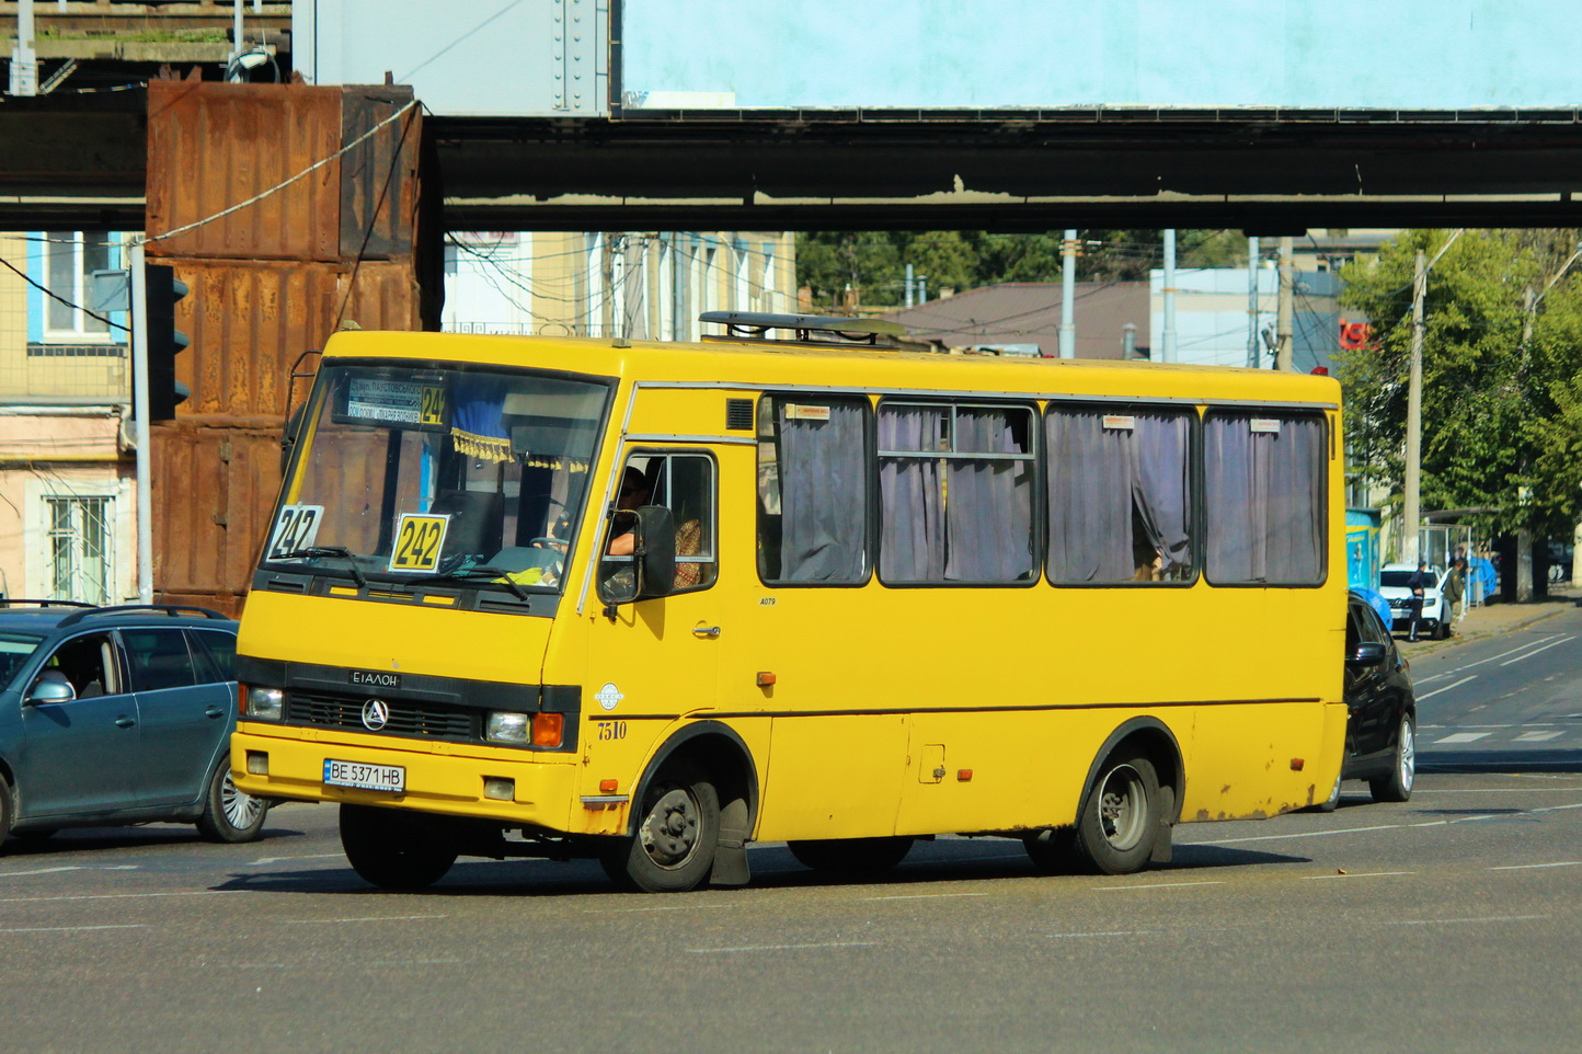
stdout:
<svg viewBox="0 0 1582 1054">
<path fill-rule="evenodd" d="M 758 407 L 758 576 L 869 579 L 869 404 L 764 396 Z"/>
</svg>

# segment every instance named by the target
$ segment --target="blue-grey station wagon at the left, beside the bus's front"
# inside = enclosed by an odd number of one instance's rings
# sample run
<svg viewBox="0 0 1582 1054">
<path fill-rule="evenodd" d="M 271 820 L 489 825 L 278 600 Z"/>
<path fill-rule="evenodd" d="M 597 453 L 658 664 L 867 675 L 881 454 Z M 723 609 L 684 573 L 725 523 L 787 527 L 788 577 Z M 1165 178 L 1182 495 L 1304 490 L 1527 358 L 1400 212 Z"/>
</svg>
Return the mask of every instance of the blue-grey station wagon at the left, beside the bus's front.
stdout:
<svg viewBox="0 0 1582 1054">
<path fill-rule="evenodd" d="M 250 842 L 231 783 L 236 622 L 201 608 L 0 600 L 0 842 L 196 823 Z"/>
</svg>

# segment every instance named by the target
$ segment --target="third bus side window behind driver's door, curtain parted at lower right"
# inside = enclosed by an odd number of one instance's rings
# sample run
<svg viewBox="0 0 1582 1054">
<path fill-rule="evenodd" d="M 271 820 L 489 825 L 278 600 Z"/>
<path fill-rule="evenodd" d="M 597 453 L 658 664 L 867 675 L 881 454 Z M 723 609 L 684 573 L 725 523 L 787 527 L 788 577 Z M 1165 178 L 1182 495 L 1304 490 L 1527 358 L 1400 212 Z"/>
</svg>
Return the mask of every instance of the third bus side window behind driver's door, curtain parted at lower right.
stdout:
<svg viewBox="0 0 1582 1054">
<path fill-rule="evenodd" d="M 1194 416 L 1142 407 L 1050 408 L 1050 582 L 1191 581 Z"/>
</svg>

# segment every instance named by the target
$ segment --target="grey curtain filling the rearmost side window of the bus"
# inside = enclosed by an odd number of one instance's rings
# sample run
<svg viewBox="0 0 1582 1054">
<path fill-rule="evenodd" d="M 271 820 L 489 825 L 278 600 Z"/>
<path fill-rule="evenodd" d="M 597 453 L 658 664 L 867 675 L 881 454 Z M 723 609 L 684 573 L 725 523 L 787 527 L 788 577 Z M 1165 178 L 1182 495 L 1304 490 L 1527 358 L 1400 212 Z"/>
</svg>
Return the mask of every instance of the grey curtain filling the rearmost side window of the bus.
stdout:
<svg viewBox="0 0 1582 1054">
<path fill-rule="evenodd" d="M 1324 423 L 1204 423 L 1207 570 L 1215 582 L 1318 582 L 1324 573 Z"/>
</svg>

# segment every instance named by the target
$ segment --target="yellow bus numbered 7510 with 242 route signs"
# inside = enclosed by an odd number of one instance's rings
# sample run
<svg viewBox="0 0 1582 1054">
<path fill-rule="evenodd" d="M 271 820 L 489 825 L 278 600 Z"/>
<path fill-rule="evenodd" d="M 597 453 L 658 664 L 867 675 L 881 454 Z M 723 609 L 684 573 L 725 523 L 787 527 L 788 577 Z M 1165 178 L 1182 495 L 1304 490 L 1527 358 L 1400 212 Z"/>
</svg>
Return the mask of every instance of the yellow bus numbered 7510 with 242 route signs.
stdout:
<svg viewBox="0 0 1582 1054">
<path fill-rule="evenodd" d="M 337 802 L 408 889 L 457 856 L 742 885 L 750 842 L 878 872 L 940 834 L 1125 874 L 1329 796 L 1334 380 L 725 321 L 335 334 L 242 619 L 237 787 Z"/>
</svg>

